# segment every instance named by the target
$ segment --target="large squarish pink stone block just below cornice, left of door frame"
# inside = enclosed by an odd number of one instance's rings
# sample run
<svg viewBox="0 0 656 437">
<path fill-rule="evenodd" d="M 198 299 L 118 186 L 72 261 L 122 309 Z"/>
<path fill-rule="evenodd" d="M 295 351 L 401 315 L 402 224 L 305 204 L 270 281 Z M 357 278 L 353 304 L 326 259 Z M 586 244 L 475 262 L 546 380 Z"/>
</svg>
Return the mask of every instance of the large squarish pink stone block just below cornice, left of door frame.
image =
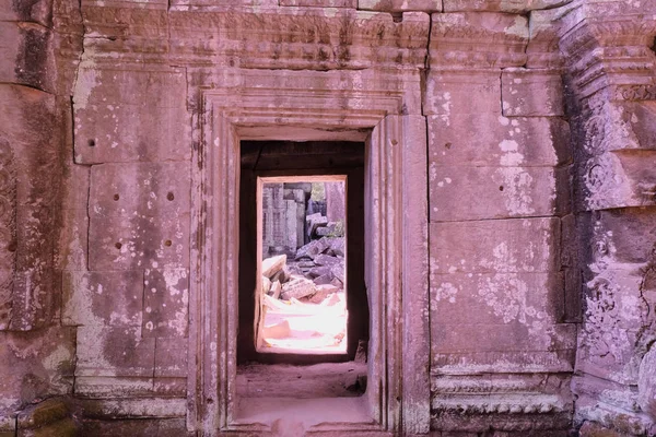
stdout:
<svg viewBox="0 0 656 437">
<path fill-rule="evenodd" d="M 75 163 L 188 161 L 186 91 L 179 70 L 81 67 L 73 94 Z"/>
</svg>

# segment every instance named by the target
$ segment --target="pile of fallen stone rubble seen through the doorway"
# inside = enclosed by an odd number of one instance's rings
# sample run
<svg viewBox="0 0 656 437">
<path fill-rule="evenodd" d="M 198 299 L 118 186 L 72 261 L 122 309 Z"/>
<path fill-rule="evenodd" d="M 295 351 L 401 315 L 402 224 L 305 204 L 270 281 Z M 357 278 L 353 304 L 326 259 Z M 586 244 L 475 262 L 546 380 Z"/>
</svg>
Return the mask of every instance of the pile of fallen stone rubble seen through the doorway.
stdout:
<svg viewBox="0 0 656 437">
<path fill-rule="evenodd" d="M 321 237 L 286 255 L 262 261 L 262 293 L 282 300 L 320 304 L 344 288 L 344 237 Z"/>
</svg>

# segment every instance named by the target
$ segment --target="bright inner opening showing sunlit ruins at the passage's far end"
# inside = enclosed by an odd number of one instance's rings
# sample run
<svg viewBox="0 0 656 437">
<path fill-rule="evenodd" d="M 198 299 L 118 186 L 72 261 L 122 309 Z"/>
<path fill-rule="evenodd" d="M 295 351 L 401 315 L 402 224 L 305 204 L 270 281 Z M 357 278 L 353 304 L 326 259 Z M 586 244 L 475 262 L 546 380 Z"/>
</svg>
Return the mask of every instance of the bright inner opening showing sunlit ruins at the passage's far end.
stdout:
<svg viewBox="0 0 656 437">
<path fill-rule="evenodd" d="M 258 178 L 258 353 L 347 353 L 347 186 L 345 175 Z"/>
</svg>

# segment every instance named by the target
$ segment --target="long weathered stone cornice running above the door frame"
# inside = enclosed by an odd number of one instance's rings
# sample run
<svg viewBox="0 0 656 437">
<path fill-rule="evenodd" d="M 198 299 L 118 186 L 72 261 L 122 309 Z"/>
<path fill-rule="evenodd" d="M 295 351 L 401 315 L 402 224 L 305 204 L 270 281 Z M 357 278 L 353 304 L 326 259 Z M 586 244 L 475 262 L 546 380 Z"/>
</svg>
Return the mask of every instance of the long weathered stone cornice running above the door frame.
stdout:
<svg viewBox="0 0 656 437">
<path fill-rule="evenodd" d="M 430 17 L 354 10 L 213 12 L 87 7 L 87 46 L 109 62 L 248 69 L 418 69 L 425 63 Z M 115 60 L 114 60 L 115 61 Z"/>
</svg>

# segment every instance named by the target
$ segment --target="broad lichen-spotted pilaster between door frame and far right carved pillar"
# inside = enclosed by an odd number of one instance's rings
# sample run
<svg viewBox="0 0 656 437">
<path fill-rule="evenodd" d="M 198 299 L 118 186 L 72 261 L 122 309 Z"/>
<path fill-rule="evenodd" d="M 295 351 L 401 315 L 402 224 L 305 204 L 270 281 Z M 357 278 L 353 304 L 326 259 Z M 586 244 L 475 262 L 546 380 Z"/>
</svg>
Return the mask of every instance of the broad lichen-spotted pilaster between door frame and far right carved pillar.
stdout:
<svg viewBox="0 0 656 437">
<path fill-rule="evenodd" d="M 515 432 L 530 421 L 564 435 L 576 327 L 563 318 L 571 155 L 558 55 L 547 35 L 530 45 L 524 15 L 442 13 L 432 24 L 431 426 Z"/>
</svg>

